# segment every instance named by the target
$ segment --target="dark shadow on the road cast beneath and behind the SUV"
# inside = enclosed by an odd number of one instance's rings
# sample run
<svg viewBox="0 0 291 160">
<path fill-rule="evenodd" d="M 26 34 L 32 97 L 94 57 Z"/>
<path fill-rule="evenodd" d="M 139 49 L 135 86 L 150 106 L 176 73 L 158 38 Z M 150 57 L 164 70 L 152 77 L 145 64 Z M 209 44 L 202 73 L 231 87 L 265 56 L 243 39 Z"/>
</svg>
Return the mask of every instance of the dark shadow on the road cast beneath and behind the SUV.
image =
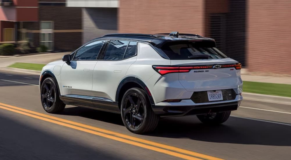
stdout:
<svg viewBox="0 0 291 160">
<path fill-rule="evenodd" d="M 123 125 L 119 114 L 88 108 L 66 108 L 61 114 Z M 164 118 L 157 129 L 147 135 L 215 143 L 291 146 L 291 126 L 236 117 L 230 117 L 219 126 L 202 124 L 196 116 Z"/>
</svg>

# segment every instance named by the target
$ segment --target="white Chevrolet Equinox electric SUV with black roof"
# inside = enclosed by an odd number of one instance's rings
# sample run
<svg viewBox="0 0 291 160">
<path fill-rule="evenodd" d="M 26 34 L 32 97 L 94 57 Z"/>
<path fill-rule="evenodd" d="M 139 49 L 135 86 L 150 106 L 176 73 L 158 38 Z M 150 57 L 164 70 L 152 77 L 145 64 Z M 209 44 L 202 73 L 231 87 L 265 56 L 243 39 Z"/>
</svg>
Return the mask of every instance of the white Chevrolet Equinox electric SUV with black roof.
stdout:
<svg viewBox="0 0 291 160">
<path fill-rule="evenodd" d="M 243 99 L 240 69 L 196 34 L 108 34 L 44 66 L 40 96 L 49 113 L 66 104 L 120 113 L 139 134 L 161 117 L 221 124 Z"/>
</svg>

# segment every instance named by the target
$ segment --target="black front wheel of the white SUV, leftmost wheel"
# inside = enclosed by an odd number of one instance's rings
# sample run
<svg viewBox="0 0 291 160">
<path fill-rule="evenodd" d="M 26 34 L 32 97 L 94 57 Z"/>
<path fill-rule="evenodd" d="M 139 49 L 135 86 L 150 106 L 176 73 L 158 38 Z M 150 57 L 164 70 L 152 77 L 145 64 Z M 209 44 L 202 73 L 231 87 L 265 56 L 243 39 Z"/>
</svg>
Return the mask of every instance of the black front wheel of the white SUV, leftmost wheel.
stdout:
<svg viewBox="0 0 291 160">
<path fill-rule="evenodd" d="M 64 110 L 65 104 L 60 100 L 58 89 L 53 78 L 46 78 L 40 89 L 41 104 L 46 112 L 58 113 Z"/>
</svg>

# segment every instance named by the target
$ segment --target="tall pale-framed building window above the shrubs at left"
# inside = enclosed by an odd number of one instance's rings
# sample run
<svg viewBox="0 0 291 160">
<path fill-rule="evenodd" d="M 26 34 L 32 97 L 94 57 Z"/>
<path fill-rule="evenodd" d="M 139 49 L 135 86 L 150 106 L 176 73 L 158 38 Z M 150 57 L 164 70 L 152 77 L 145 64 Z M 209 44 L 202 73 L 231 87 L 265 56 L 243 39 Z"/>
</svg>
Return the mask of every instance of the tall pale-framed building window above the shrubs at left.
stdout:
<svg viewBox="0 0 291 160">
<path fill-rule="evenodd" d="M 42 21 L 40 27 L 40 45 L 45 45 L 47 46 L 48 50 L 53 50 L 53 22 Z"/>
</svg>

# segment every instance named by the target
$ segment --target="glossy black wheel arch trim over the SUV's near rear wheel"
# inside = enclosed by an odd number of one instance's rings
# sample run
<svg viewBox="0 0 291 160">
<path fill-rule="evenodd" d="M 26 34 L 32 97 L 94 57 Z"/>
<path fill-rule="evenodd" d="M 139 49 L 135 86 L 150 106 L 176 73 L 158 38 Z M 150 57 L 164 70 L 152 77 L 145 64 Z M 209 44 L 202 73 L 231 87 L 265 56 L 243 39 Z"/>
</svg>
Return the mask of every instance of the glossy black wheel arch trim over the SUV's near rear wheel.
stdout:
<svg viewBox="0 0 291 160">
<path fill-rule="evenodd" d="M 126 77 L 124 78 L 118 85 L 116 90 L 115 101 L 118 102 L 118 106 L 120 107 L 122 95 L 129 89 L 133 87 L 139 87 L 145 91 L 150 100 L 151 106 L 155 106 L 154 99 L 152 98 L 152 94 L 150 93 L 148 87 L 145 83 L 137 77 Z"/>
</svg>

